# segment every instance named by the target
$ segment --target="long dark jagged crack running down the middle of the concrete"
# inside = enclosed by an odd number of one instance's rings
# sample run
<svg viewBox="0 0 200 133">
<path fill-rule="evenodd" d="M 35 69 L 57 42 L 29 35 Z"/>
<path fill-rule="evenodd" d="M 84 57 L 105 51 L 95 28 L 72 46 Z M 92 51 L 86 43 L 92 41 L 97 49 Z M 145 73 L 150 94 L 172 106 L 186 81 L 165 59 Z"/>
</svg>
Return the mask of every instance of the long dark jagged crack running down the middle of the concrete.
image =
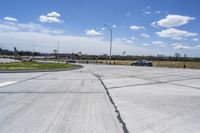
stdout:
<svg viewBox="0 0 200 133">
<path fill-rule="evenodd" d="M 97 77 L 97 78 L 99 79 L 99 81 L 101 82 L 101 84 L 103 85 L 103 87 L 104 87 L 104 89 L 105 89 L 105 91 L 106 91 L 106 94 L 108 95 L 108 98 L 109 98 L 111 104 L 114 106 L 115 112 L 117 113 L 117 119 L 118 119 L 119 123 L 122 124 L 123 132 L 124 132 L 124 133 L 129 133 L 128 128 L 127 128 L 127 126 L 126 126 L 126 123 L 125 123 L 124 120 L 122 119 L 121 114 L 120 114 L 120 111 L 118 110 L 117 105 L 115 104 L 115 102 L 114 102 L 112 96 L 110 95 L 110 93 L 109 93 L 109 91 L 108 91 L 108 88 L 106 87 L 106 85 L 105 85 L 104 82 L 102 81 L 101 76 L 98 75 L 98 74 L 93 73 L 93 72 L 90 71 L 90 70 L 88 70 L 88 71 L 89 71 L 92 75 L 94 75 L 95 77 Z"/>
</svg>

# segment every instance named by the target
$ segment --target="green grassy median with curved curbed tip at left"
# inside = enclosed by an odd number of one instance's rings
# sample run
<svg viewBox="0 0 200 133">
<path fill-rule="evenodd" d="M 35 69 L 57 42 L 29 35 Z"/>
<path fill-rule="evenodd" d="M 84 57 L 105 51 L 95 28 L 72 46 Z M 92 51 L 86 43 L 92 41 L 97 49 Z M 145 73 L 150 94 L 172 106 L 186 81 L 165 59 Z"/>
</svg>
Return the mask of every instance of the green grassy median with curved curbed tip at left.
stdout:
<svg viewBox="0 0 200 133">
<path fill-rule="evenodd" d="M 48 70 L 73 68 L 76 66 L 65 63 L 12 62 L 0 63 L 0 70 Z"/>
</svg>

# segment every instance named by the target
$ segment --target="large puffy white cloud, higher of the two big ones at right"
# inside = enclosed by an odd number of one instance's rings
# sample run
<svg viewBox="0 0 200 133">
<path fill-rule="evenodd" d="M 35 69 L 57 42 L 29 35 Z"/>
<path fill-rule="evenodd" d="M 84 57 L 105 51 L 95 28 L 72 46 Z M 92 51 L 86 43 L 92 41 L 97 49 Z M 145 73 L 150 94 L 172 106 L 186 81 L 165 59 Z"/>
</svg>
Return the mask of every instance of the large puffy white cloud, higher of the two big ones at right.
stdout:
<svg viewBox="0 0 200 133">
<path fill-rule="evenodd" d="M 151 25 L 154 27 L 178 27 L 189 23 L 189 21 L 195 20 L 194 17 L 181 16 L 181 15 L 167 15 L 166 18 L 153 22 Z"/>
</svg>

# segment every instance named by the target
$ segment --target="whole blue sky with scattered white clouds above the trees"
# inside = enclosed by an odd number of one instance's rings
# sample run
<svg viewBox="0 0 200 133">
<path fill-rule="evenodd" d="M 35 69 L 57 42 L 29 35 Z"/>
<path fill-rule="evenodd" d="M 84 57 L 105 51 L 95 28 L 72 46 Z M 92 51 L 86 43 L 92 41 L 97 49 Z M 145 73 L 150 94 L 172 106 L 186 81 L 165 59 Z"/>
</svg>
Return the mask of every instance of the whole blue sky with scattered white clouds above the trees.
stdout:
<svg viewBox="0 0 200 133">
<path fill-rule="evenodd" d="M 0 48 L 200 57 L 199 0 L 1 0 Z"/>
</svg>

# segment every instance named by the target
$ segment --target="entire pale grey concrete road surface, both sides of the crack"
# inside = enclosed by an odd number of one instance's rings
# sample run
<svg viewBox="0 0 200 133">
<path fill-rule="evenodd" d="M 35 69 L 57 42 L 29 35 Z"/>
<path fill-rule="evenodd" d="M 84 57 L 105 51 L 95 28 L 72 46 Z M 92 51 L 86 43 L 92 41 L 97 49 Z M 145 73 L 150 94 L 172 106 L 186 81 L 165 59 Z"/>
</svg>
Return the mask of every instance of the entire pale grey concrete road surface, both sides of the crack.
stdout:
<svg viewBox="0 0 200 133">
<path fill-rule="evenodd" d="M 199 70 L 84 67 L 0 74 L 0 133 L 199 133 Z"/>
</svg>

